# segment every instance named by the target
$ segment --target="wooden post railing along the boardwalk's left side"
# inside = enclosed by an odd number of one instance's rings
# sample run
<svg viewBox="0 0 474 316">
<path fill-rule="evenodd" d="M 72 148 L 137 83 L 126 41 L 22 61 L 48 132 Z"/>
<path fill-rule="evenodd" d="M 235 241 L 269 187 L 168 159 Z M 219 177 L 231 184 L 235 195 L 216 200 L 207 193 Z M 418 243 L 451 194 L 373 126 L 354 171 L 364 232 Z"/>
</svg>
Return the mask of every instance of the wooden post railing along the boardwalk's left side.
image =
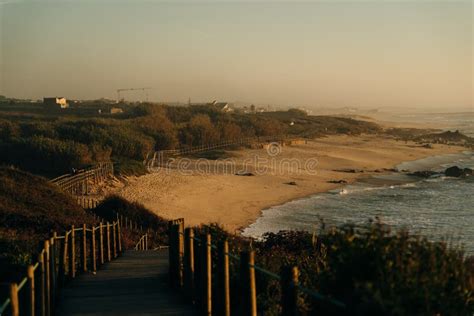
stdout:
<svg viewBox="0 0 474 316">
<path fill-rule="evenodd" d="M 28 266 L 26 277 L 10 284 L 10 295 L 0 306 L 0 315 L 54 315 L 56 298 L 66 281 L 73 280 L 79 272 L 95 273 L 98 266 L 121 252 L 118 220 L 95 227 L 72 226 L 61 236 L 53 233 L 44 241 L 38 262 Z"/>
</svg>

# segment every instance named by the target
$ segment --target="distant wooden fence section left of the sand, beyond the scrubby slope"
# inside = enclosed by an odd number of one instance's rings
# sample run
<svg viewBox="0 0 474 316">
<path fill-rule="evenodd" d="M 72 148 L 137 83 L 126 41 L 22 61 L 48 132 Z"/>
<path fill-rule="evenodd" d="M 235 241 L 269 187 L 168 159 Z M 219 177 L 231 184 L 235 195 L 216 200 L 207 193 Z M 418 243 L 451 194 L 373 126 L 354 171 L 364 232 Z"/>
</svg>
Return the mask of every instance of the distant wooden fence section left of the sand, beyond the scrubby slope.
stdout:
<svg viewBox="0 0 474 316">
<path fill-rule="evenodd" d="M 72 195 L 86 195 L 90 192 L 89 185 L 98 184 L 114 174 L 112 162 L 101 162 L 97 165 L 78 170 L 74 174 L 66 174 L 51 180 L 62 191 Z"/>
</svg>

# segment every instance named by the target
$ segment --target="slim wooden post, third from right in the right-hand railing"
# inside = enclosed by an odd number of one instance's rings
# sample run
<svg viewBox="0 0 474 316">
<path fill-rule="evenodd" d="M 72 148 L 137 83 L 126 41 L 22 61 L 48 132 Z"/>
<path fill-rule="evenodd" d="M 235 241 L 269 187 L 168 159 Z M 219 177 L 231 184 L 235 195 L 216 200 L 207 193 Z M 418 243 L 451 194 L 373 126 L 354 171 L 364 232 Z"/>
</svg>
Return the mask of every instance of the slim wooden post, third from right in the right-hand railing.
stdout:
<svg viewBox="0 0 474 316">
<path fill-rule="evenodd" d="M 218 278 L 219 282 L 219 315 L 230 316 L 230 281 L 229 281 L 229 243 L 220 242 L 218 247 Z"/>
</svg>

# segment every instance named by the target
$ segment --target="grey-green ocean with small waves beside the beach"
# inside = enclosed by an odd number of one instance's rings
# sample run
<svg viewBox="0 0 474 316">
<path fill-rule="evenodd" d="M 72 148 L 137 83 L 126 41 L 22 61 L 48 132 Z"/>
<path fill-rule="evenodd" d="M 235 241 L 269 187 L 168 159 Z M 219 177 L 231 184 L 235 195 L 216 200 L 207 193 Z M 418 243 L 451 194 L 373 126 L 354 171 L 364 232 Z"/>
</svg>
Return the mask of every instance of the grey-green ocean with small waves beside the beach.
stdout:
<svg viewBox="0 0 474 316">
<path fill-rule="evenodd" d="M 433 156 L 397 166 L 398 170 L 442 171 L 450 166 L 474 169 L 474 152 Z M 474 255 L 474 176 L 428 179 L 392 173 L 362 179 L 263 210 L 243 235 L 261 238 L 265 232 L 306 230 L 380 218 L 393 230 L 408 229 L 428 239 L 446 240 Z"/>
</svg>

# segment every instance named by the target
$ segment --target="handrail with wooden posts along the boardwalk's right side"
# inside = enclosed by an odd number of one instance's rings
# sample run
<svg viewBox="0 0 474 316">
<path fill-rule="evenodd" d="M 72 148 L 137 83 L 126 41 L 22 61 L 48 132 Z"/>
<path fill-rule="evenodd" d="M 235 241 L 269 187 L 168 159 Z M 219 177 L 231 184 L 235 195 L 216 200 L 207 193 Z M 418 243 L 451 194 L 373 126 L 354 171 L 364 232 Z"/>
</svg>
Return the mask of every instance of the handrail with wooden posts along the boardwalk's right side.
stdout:
<svg viewBox="0 0 474 316">
<path fill-rule="evenodd" d="M 244 251 L 241 253 L 241 256 L 238 256 L 228 250 L 227 241 L 223 241 L 223 243 L 219 247 L 217 247 L 215 244 L 212 244 L 210 239 L 211 235 L 209 234 L 209 232 L 206 233 L 205 236 L 205 239 L 194 236 L 192 228 L 186 228 L 185 230 L 184 221 L 182 219 L 173 220 L 169 222 L 170 281 L 175 287 L 184 287 L 185 294 L 187 295 L 187 297 L 194 297 L 195 295 L 198 295 L 193 292 L 195 291 L 193 282 L 200 282 L 201 287 L 204 287 L 204 290 L 201 289 L 203 290 L 203 293 L 199 294 L 204 295 L 201 300 L 201 303 L 203 304 L 202 308 L 204 310 L 207 310 L 207 312 L 210 312 L 212 309 L 210 294 L 212 293 L 212 290 L 209 290 L 210 288 L 212 288 L 213 284 L 211 281 L 211 278 L 213 278 L 212 269 L 210 268 L 212 266 L 211 260 L 213 260 L 211 259 L 212 250 L 217 250 L 218 258 L 220 258 L 217 263 L 217 273 L 219 274 L 218 279 L 221 280 L 219 282 L 223 282 L 224 284 L 224 288 L 222 290 L 225 293 L 223 293 L 218 298 L 224 301 L 220 301 L 219 304 L 217 304 L 219 306 L 225 305 L 227 309 L 230 308 L 229 260 L 224 259 L 225 257 L 227 257 L 240 263 L 240 286 L 244 289 L 244 291 L 249 291 L 249 294 L 246 295 L 250 296 L 250 301 L 243 302 L 243 304 L 245 305 L 245 307 L 243 307 L 245 310 L 244 314 L 256 315 L 257 294 L 255 287 L 255 272 L 264 274 L 280 282 L 282 287 L 282 307 L 283 310 L 287 310 L 287 312 L 296 311 L 298 304 L 298 291 L 304 293 L 312 299 L 329 303 L 330 306 L 334 308 L 347 308 L 344 302 L 334 299 L 330 296 L 318 293 L 317 291 L 309 289 L 300 284 L 298 281 L 299 273 L 297 267 L 285 267 L 281 272 L 282 274 L 274 273 L 255 264 L 253 251 Z M 194 243 L 193 245 L 193 241 L 196 241 L 197 243 Z M 200 278 L 199 281 L 192 281 L 194 274 L 194 258 L 191 258 L 193 256 L 190 256 L 188 253 L 195 253 L 195 250 L 193 250 L 193 248 L 196 246 L 199 247 L 199 252 L 201 253 L 202 261 L 200 264 L 200 269 L 203 270 L 201 270 L 201 272 L 199 272 L 199 274 L 197 275 Z M 224 297 L 224 299 L 222 297 Z M 293 315 L 294 312 L 284 314 Z"/>
</svg>

